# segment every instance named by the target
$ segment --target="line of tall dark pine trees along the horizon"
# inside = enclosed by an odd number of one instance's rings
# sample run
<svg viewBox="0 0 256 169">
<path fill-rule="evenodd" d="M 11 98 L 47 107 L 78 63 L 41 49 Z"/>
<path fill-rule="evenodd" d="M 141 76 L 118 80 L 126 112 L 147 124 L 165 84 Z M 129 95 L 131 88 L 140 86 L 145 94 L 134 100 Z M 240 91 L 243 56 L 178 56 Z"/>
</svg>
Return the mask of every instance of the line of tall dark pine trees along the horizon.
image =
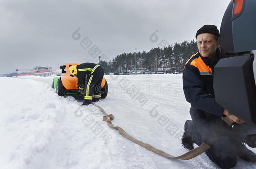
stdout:
<svg viewBox="0 0 256 169">
<path fill-rule="evenodd" d="M 164 48 L 152 48 L 136 53 L 136 68 L 149 71 L 182 70 L 186 61 L 198 51 L 194 40 L 174 43 Z M 99 61 L 104 72 L 128 72 L 135 69 L 135 52 L 122 53 L 109 61 Z"/>
</svg>

